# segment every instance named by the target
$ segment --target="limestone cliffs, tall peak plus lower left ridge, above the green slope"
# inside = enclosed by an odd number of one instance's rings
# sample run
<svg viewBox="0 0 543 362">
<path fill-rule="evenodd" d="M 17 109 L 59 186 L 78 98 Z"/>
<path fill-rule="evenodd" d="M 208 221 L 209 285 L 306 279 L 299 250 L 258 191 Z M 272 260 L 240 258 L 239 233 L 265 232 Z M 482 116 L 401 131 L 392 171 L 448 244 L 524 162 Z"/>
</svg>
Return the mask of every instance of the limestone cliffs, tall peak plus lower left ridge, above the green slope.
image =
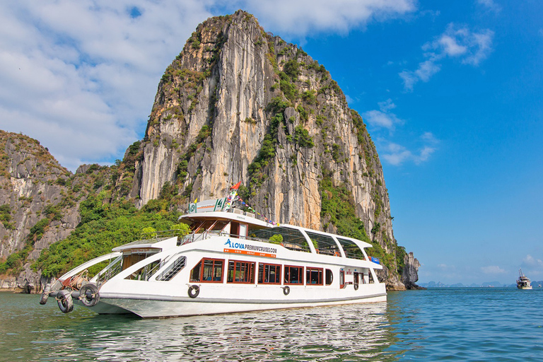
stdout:
<svg viewBox="0 0 543 362">
<path fill-rule="evenodd" d="M 276 222 L 373 243 L 388 288 L 417 280 L 419 262 L 395 240 L 363 119 L 324 66 L 243 11 L 192 33 L 160 79 L 144 139 L 116 165 L 74 175 L 33 139 L 1 139 L 0 267 L 16 265 L 9 277 L 0 269 L 8 286 L 39 288 L 41 264 L 33 261 L 81 225 L 81 202 L 99 192 L 107 190 L 103 203 L 152 210 L 160 199 L 162 211 L 176 211 L 222 197 L 236 182 L 243 199 Z"/>
</svg>

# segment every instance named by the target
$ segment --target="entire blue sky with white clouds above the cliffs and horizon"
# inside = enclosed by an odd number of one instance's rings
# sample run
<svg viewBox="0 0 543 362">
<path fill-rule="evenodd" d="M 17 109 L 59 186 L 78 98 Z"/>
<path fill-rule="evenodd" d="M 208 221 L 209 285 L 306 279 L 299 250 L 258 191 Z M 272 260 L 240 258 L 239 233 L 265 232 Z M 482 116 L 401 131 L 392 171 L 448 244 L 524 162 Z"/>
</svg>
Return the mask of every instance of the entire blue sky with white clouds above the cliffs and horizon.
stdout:
<svg viewBox="0 0 543 362">
<path fill-rule="evenodd" d="M 72 171 L 112 163 L 197 24 L 243 8 L 363 116 L 420 282 L 543 280 L 541 1 L 110 3 L 0 3 L 0 129 Z"/>
</svg>

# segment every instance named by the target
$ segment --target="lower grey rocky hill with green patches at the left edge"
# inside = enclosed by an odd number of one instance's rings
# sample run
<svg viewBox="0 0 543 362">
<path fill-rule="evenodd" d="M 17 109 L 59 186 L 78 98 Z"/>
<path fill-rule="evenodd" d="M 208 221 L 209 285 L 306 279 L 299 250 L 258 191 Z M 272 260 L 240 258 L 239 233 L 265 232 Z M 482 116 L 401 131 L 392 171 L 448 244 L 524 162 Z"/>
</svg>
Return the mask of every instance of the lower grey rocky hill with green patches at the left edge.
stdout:
<svg viewBox="0 0 543 362">
<path fill-rule="evenodd" d="M 35 292 L 41 275 L 30 265 L 52 243 L 76 228 L 78 204 L 93 187 L 91 174 L 73 175 L 40 142 L 0 131 L 0 288 Z"/>
</svg>

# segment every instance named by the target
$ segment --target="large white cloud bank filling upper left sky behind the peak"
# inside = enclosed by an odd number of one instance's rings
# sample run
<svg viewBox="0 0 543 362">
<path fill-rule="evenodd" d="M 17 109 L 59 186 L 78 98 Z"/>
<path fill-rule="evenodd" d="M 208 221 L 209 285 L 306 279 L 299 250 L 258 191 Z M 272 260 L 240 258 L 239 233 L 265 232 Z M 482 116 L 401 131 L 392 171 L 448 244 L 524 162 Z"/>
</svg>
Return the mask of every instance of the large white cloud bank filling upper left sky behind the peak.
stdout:
<svg viewBox="0 0 543 362">
<path fill-rule="evenodd" d="M 404 16 L 415 0 L 57 0 L 0 2 L 0 129 L 62 165 L 121 158 L 156 86 L 198 23 L 245 8 L 285 37 L 346 32 Z"/>
</svg>

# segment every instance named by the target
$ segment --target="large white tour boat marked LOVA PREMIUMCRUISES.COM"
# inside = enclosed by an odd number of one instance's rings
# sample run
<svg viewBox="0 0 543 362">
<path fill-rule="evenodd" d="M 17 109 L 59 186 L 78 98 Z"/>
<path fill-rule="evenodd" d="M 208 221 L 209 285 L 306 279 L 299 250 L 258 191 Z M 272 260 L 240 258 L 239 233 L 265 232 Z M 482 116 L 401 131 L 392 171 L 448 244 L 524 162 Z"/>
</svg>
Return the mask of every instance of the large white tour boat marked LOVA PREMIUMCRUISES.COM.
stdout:
<svg viewBox="0 0 543 362">
<path fill-rule="evenodd" d="M 387 299 L 370 244 L 260 220 L 231 199 L 191 204 L 180 216 L 189 235 L 115 247 L 48 284 L 40 303 L 55 296 L 64 313 L 75 300 L 100 314 L 175 317 Z M 109 263 L 88 279 L 100 262 Z"/>
</svg>

